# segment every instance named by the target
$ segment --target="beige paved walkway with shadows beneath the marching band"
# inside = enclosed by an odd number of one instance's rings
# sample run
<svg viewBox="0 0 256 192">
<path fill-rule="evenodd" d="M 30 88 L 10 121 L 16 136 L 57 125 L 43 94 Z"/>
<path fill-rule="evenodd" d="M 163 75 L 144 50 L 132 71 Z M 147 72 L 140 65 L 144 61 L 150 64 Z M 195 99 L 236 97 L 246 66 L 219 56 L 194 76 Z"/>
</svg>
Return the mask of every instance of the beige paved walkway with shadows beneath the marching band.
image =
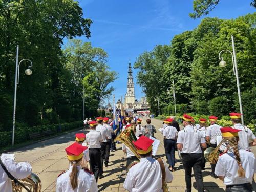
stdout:
<svg viewBox="0 0 256 192">
<path fill-rule="evenodd" d="M 145 123 L 145 119 L 143 119 Z M 142 125 L 144 124 L 142 123 Z M 161 141 L 157 155 L 161 156 L 165 161 L 163 137 L 158 131 L 162 125 L 162 121 L 152 119 L 152 124 L 156 126 L 157 133 L 155 137 Z M 79 132 L 83 132 L 80 130 Z M 68 133 L 56 138 L 41 141 L 14 151 L 16 161 L 27 161 L 31 163 L 33 172 L 39 176 L 42 182 L 42 191 L 55 191 L 56 177 L 63 170 L 67 170 L 69 163 L 67 160 L 65 148 L 74 142 L 75 133 Z M 103 167 L 104 178 L 98 180 L 99 191 L 125 191 L 123 182 L 126 176 L 126 159 L 121 150 L 121 144 L 117 144 L 117 151 L 110 153 L 109 167 Z M 13 152 L 12 152 L 13 153 Z M 176 158 L 178 154 L 176 152 Z M 176 163 L 177 170 L 172 172 L 174 180 L 168 183 L 169 191 L 184 191 L 185 178 L 184 169 L 180 160 Z M 214 179 L 210 176 L 210 165 L 206 164 L 206 170 L 203 171 L 204 186 L 209 191 L 224 191 L 224 184 L 219 179 Z M 192 178 L 193 186 L 195 179 Z M 197 191 L 193 189 L 193 191 Z"/>
</svg>

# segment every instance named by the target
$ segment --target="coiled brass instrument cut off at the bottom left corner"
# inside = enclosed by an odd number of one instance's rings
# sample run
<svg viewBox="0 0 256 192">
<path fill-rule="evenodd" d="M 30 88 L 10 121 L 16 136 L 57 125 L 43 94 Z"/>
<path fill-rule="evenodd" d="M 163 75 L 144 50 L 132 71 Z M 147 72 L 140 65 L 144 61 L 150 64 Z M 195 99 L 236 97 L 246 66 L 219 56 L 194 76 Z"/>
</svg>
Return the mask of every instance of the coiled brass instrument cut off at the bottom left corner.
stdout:
<svg viewBox="0 0 256 192">
<path fill-rule="evenodd" d="M 29 177 L 20 179 L 20 183 L 24 184 L 31 192 L 41 192 L 42 184 L 40 178 L 31 173 Z M 26 191 L 22 186 L 16 186 L 15 183 L 12 181 L 12 191 L 13 192 L 22 192 Z"/>
</svg>

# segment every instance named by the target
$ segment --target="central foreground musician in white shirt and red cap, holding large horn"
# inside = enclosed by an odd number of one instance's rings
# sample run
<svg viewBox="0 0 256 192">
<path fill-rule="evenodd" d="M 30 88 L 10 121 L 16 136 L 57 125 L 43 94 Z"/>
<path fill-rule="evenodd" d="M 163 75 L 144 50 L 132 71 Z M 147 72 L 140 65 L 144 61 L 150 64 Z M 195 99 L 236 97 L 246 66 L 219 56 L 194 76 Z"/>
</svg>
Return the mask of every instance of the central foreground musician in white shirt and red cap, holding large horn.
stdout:
<svg viewBox="0 0 256 192">
<path fill-rule="evenodd" d="M 173 175 L 169 172 L 167 165 L 160 158 L 152 158 L 152 143 L 154 141 L 145 136 L 141 136 L 134 145 L 140 154 L 140 162 L 132 166 L 125 178 L 123 187 L 129 192 L 152 192 L 162 191 L 162 176 L 165 172 L 165 182 L 173 180 Z M 162 168 L 161 165 L 162 164 Z"/>
</svg>

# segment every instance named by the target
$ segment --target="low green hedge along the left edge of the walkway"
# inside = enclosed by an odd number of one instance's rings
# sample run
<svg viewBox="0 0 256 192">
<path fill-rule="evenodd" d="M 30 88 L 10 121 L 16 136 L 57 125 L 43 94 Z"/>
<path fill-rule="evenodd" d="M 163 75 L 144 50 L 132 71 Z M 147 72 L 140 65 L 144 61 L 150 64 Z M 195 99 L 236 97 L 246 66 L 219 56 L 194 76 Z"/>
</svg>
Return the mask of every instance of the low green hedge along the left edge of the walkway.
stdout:
<svg viewBox="0 0 256 192">
<path fill-rule="evenodd" d="M 31 133 L 42 133 L 43 131 L 51 130 L 53 134 L 57 132 L 63 132 L 67 130 L 72 130 L 78 127 L 82 127 L 82 121 L 75 121 L 71 123 L 60 123 L 60 124 L 50 124 L 50 125 L 40 125 L 32 127 L 18 127 L 15 129 L 15 144 L 24 143 L 31 140 L 29 134 Z M 60 129 L 59 129 L 60 128 Z M 37 140 L 37 139 L 34 139 Z M 12 131 L 0 132 L 0 148 L 6 147 L 12 144 Z"/>
</svg>

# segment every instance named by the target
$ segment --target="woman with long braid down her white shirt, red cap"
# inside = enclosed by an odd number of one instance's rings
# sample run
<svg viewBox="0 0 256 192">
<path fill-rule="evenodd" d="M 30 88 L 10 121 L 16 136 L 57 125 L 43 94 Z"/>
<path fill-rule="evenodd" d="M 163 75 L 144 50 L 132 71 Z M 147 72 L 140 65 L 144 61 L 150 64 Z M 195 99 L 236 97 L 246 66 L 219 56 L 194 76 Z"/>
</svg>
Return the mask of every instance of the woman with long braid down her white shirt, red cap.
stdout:
<svg viewBox="0 0 256 192">
<path fill-rule="evenodd" d="M 241 130 L 232 127 L 223 127 L 220 130 L 222 137 L 232 143 L 233 147 L 227 146 L 229 150 L 220 154 L 215 174 L 224 181 L 227 192 L 253 191 L 251 183 L 253 175 L 256 173 L 254 154 L 238 145 L 238 132 Z"/>
</svg>

